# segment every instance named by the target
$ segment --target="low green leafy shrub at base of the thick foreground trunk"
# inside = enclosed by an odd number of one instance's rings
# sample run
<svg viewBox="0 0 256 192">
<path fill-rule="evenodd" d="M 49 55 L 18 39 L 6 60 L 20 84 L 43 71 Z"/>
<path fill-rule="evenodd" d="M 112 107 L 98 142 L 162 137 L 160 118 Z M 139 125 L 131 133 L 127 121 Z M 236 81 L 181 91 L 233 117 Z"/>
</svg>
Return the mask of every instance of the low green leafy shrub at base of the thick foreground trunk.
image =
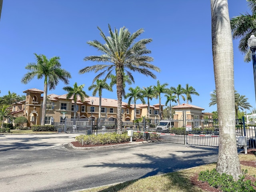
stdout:
<svg viewBox="0 0 256 192">
<path fill-rule="evenodd" d="M 216 169 L 201 171 L 198 179 L 203 182 L 208 182 L 208 184 L 214 188 L 220 188 L 222 192 L 256 192 L 252 186 L 251 180 L 244 180 L 246 172 L 247 170 L 243 171 L 238 181 L 234 181 L 231 175 L 218 173 Z"/>
</svg>

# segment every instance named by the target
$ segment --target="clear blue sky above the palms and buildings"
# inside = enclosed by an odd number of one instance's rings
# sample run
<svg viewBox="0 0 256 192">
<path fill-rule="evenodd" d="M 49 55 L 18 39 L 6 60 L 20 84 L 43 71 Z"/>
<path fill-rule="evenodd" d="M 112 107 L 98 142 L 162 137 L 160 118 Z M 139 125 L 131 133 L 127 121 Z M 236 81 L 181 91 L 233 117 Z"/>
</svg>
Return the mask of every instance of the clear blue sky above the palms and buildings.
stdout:
<svg viewBox="0 0 256 192">
<path fill-rule="evenodd" d="M 230 18 L 249 12 L 246 0 L 228 3 Z M 216 106 L 209 107 L 210 94 L 215 89 L 210 0 L 4 0 L 0 20 L 0 96 L 8 94 L 8 90 L 19 95 L 29 88 L 43 90 L 43 79 L 20 82 L 28 72 L 25 66 L 36 62 L 34 53 L 48 58 L 60 56 L 62 68 L 72 75 L 70 86 L 75 82 L 85 84 L 84 90 L 91 96 L 88 86 L 96 74 L 78 71 L 96 64 L 83 61 L 85 56 L 101 54 L 86 42 L 103 42 L 97 26 L 108 34 L 108 24 L 112 29 L 125 26 L 131 33 L 143 28 L 145 32 L 138 40 L 153 40 L 147 48 L 152 51 L 152 64 L 161 72 L 156 72 L 156 80 L 134 73 L 132 87 L 156 85 L 157 80 L 161 84 L 167 82 L 168 87 L 185 87 L 188 83 L 200 94 L 192 95 L 193 105 L 204 108 L 204 112 L 216 110 Z M 255 107 L 252 63 L 244 63 L 238 40 L 233 41 L 233 46 L 235 89 Z M 64 86 L 60 82 L 48 94 L 66 94 Z M 116 89 L 103 90 L 103 97 L 116 99 Z M 163 104 L 166 98 L 164 94 L 161 97 Z M 150 104 L 157 103 L 158 99 L 154 99 Z"/>
</svg>

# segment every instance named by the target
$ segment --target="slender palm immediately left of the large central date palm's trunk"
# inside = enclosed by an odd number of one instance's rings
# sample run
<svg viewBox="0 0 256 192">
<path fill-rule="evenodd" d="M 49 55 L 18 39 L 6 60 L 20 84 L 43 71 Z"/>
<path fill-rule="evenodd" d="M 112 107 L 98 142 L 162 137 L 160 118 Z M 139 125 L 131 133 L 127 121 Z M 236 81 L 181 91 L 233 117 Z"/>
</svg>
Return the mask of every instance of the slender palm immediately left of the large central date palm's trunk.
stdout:
<svg viewBox="0 0 256 192">
<path fill-rule="evenodd" d="M 96 80 L 96 84 L 93 84 L 93 85 L 91 85 L 90 87 L 88 87 L 88 90 L 90 91 L 90 90 L 92 90 L 92 89 L 94 89 L 93 90 L 93 92 L 92 92 L 92 96 L 96 96 L 96 93 L 97 92 L 99 92 L 99 99 L 100 99 L 100 106 L 99 106 L 99 119 L 101 118 L 101 97 L 102 97 L 102 90 L 103 89 L 106 89 L 106 90 L 108 90 L 108 91 L 113 91 L 112 90 L 112 87 L 111 86 L 109 86 L 107 83 L 106 83 L 106 80 L 104 79 L 104 80 L 99 80 L 99 79 L 97 79 Z"/>
</svg>

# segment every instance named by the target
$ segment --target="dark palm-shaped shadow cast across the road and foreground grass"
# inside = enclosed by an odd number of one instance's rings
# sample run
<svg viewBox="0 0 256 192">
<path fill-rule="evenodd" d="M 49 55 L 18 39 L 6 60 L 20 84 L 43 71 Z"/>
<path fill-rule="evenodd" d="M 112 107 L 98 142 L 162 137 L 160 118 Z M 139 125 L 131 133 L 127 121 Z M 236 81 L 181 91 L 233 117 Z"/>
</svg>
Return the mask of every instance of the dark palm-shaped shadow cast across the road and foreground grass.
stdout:
<svg viewBox="0 0 256 192">
<path fill-rule="evenodd" d="M 218 150 L 208 150 L 204 152 L 200 152 L 198 150 L 191 150 L 189 153 L 188 151 L 180 151 L 180 153 L 181 154 L 178 155 L 169 154 L 169 156 L 165 158 L 159 158 L 158 156 L 149 156 L 146 154 L 135 154 L 136 156 L 138 156 L 138 159 L 141 160 L 141 163 L 102 163 L 102 165 L 88 165 L 84 166 L 84 168 L 102 166 L 108 168 L 122 168 L 124 172 L 126 172 L 126 175 L 129 174 L 129 172 L 132 174 L 132 170 L 134 169 L 141 169 L 142 173 L 144 173 L 138 178 L 130 181 L 122 181 L 119 184 L 115 184 L 114 186 L 109 186 L 106 189 L 100 190 L 100 192 L 116 192 L 118 190 L 122 190 L 129 185 L 132 185 L 139 179 L 170 172 L 172 172 L 172 174 L 175 174 L 175 176 L 170 176 L 170 174 L 164 175 L 164 177 L 169 180 L 169 182 L 167 182 L 164 186 L 165 189 L 168 190 L 175 185 L 184 192 L 190 192 L 191 188 L 187 187 L 187 185 L 190 184 L 189 178 L 187 178 L 184 173 L 177 171 L 210 163 L 209 157 L 212 157 L 213 153 L 217 156 Z M 186 156 L 186 158 L 184 158 L 184 156 Z"/>
</svg>

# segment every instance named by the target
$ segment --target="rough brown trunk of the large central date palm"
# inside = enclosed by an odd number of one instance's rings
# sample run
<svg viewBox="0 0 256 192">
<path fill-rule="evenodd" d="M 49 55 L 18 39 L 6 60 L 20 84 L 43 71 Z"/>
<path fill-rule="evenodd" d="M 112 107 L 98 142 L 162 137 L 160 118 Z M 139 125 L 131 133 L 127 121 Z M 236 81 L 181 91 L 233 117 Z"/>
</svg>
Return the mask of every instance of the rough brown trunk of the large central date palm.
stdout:
<svg viewBox="0 0 256 192">
<path fill-rule="evenodd" d="M 116 68 L 116 93 L 117 93 L 117 133 L 122 133 L 122 94 L 123 94 L 122 69 Z"/>
</svg>

